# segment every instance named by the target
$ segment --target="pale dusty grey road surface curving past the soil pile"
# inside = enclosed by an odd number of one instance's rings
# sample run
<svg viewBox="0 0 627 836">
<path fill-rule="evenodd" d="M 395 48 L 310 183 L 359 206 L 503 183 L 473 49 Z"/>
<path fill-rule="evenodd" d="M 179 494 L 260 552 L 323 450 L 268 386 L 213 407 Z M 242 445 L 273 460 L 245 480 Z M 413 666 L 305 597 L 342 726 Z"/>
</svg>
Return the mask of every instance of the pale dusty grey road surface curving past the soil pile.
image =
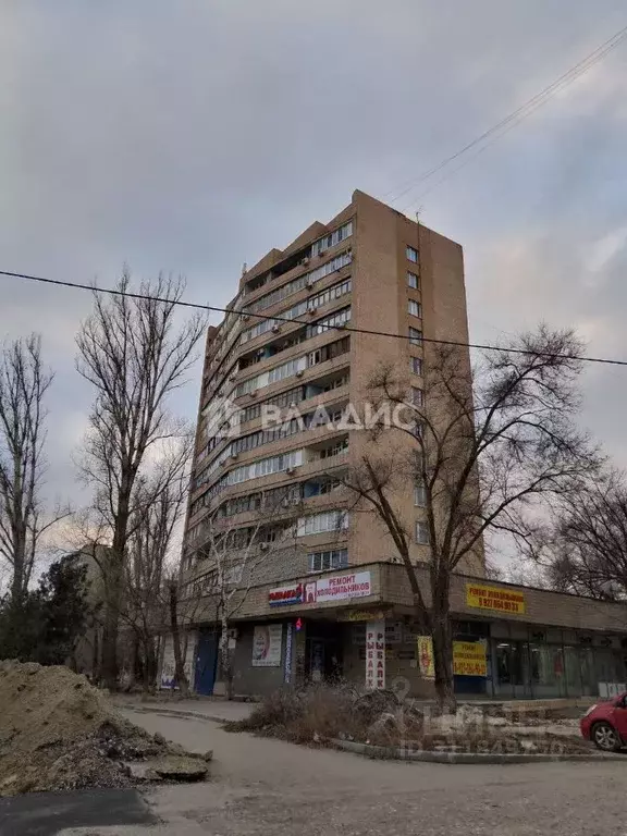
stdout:
<svg viewBox="0 0 627 836">
<path fill-rule="evenodd" d="M 189 749 L 213 749 L 211 782 L 144 794 L 156 824 L 91 819 L 63 836 L 627 836 L 627 757 L 511 766 L 369 761 L 228 734 L 208 721 L 127 716 Z M 0 827 L 14 833 L 30 836 Z"/>
</svg>

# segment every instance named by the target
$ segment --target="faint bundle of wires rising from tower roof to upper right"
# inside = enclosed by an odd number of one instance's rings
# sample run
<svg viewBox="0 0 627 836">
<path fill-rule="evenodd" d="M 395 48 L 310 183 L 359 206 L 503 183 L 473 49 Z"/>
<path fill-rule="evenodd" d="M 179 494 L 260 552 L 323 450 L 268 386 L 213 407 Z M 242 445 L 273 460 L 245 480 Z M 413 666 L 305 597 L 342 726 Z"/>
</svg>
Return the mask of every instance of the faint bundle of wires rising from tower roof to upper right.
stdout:
<svg viewBox="0 0 627 836">
<path fill-rule="evenodd" d="M 414 189 L 419 183 L 422 183 L 423 181 L 429 180 L 429 177 L 433 176 L 433 174 L 437 174 L 439 171 L 444 169 L 451 162 L 454 162 L 464 153 L 471 150 L 477 145 L 482 143 L 484 139 L 488 139 L 490 136 L 497 133 L 499 131 L 502 131 L 502 133 L 499 134 L 492 142 L 495 142 L 497 138 L 501 138 L 501 136 L 507 133 L 507 131 L 512 130 L 512 127 L 516 127 L 516 125 L 520 124 L 520 122 L 522 122 L 525 119 L 530 116 L 536 110 L 538 110 L 543 104 L 545 104 L 551 98 L 553 98 L 553 96 L 555 96 L 556 93 L 567 87 L 569 84 L 571 84 L 577 78 L 579 78 L 579 76 L 583 75 L 583 73 L 588 72 L 588 70 L 590 70 L 597 63 L 602 61 L 605 58 L 605 56 L 607 56 L 608 52 L 615 49 L 623 40 L 625 40 L 625 38 L 627 38 L 627 26 L 616 32 L 614 35 L 612 35 L 611 38 L 607 38 L 606 41 L 601 44 L 601 46 L 598 47 L 595 50 L 593 50 L 589 56 L 587 56 L 585 59 L 579 61 L 579 63 L 575 64 L 573 67 L 570 67 L 570 70 L 568 70 L 566 73 L 564 73 L 558 78 L 556 78 L 552 84 L 550 84 L 543 90 L 536 94 L 536 96 L 532 96 L 528 101 L 526 101 L 519 108 L 516 108 L 516 110 L 512 111 L 512 113 L 509 113 L 507 116 L 502 119 L 495 125 L 492 125 L 492 127 L 488 128 L 488 131 L 484 131 L 482 134 L 477 136 L 475 139 L 472 139 L 472 142 L 468 143 L 458 151 L 456 151 L 455 153 L 452 153 L 450 157 L 446 157 L 444 160 L 439 162 L 433 168 L 425 171 L 418 177 L 415 177 L 408 181 L 407 185 L 404 188 L 402 188 L 402 190 L 398 194 L 396 194 L 395 197 L 392 198 L 392 201 L 394 202 L 396 200 L 399 200 L 408 192 L 411 192 L 411 189 Z M 506 128 L 506 130 L 503 131 L 503 128 Z M 490 145 L 492 143 L 490 143 Z M 458 167 L 457 169 L 455 169 L 455 171 L 458 171 L 459 168 L 463 168 L 463 167 Z M 446 177 L 444 177 L 443 180 L 445 179 Z M 443 180 L 438 181 L 438 184 L 442 183 Z M 392 189 L 385 193 L 383 197 L 388 198 L 390 197 L 390 195 L 394 195 L 396 189 Z"/>
</svg>

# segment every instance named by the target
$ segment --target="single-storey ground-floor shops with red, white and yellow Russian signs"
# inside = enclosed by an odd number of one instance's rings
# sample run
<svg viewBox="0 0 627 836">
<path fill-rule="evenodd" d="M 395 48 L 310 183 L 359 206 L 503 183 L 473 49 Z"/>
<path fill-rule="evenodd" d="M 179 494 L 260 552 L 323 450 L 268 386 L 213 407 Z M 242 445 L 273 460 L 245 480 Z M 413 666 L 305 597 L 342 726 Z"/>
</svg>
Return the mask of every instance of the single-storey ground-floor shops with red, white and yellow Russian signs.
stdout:
<svg viewBox="0 0 627 836">
<path fill-rule="evenodd" d="M 432 649 L 415 627 L 402 567 L 255 590 L 233 620 L 234 687 L 265 694 L 283 685 L 347 680 L 431 698 Z M 476 699 L 606 697 L 627 688 L 622 605 L 456 578 L 452 589 L 455 691 Z M 218 632 L 200 623 L 194 687 L 220 681 Z"/>
</svg>

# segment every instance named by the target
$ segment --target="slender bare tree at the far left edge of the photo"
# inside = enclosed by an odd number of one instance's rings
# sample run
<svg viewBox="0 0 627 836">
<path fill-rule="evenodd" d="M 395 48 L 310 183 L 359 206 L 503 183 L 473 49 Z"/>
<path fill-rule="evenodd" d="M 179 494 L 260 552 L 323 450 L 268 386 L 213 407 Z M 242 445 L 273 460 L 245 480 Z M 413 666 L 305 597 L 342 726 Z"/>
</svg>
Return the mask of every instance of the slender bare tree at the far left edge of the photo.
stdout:
<svg viewBox="0 0 627 836">
<path fill-rule="evenodd" d="M 0 357 L 0 556 L 10 568 L 10 594 L 28 588 L 42 536 L 67 512 L 46 514 L 45 398 L 52 373 L 36 334 L 3 348 Z"/>
</svg>

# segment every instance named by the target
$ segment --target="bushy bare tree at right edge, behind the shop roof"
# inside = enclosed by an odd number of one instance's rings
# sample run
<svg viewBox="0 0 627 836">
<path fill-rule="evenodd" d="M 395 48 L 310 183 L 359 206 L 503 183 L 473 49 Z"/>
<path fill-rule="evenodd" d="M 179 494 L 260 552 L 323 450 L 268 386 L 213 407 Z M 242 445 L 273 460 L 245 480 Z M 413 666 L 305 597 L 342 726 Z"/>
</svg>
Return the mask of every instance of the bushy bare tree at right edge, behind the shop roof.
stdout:
<svg viewBox="0 0 627 836">
<path fill-rule="evenodd" d="M 528 555 L 553 589 L 601 601 L 627 600 L 627 485 L 612 470 L 561 497 Z"/>
</svg>

